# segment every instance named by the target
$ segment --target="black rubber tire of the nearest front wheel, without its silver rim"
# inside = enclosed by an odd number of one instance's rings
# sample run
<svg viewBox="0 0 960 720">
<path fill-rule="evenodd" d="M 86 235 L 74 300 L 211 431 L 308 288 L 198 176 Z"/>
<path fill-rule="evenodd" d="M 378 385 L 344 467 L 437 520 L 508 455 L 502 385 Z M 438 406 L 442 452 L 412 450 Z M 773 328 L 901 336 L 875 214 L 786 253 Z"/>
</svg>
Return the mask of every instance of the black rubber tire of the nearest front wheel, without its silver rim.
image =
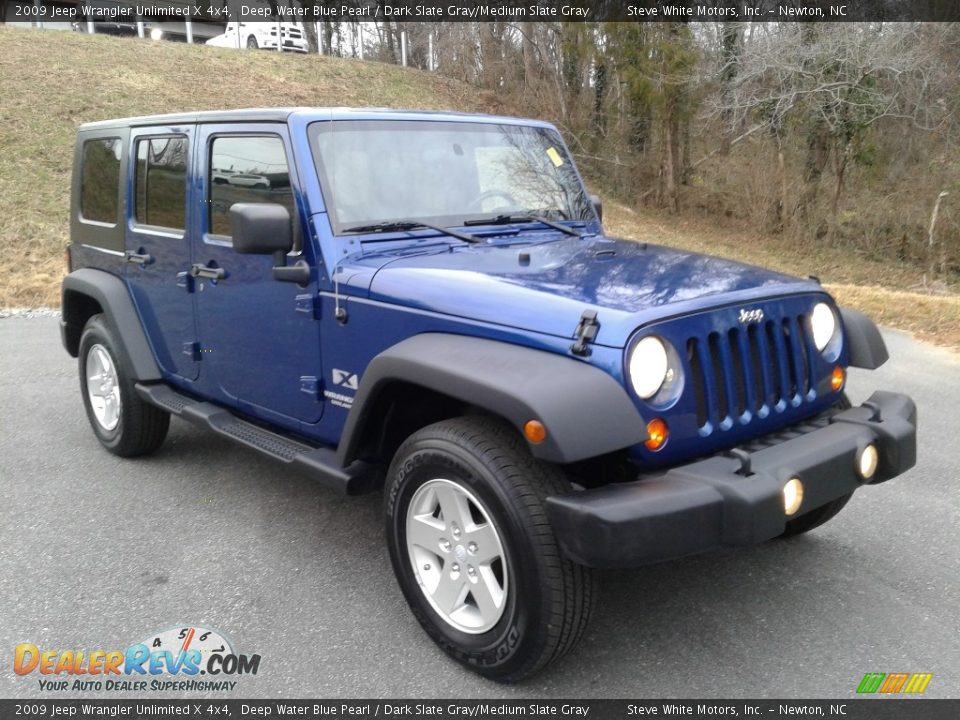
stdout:
<svg viewBox="0 0 960 720">
<path fill-rule="evenodd" d="M 500 567 L 507 583 L 502 615 L 486 631 L 463 632 L 439 614 L 413 567 L 408 509 L 417 490 L 438 479 L 479 501 L 502 545 L 506 567 Z M 596 602 L 597 573 L 562 555 L 544 507 L 545 497 L 569 490 L 559 468 L 534 459 L 518 433 L 494 418 L 439 422 L 414 433 L 397 450 L 384 493 L 394 573 L 427 634 L 469 669 L 517 682 L 560 658 L 583 635 Z M 445 522 L 442 516 L 439 522 Z M 454 552 L 462 551 L 458 545 Z M 449 560 L 455 562 L 452 555 Z M 438 563 L 443 571 L 446 567 Z M 470 589 L 466 582 L 463 587 Z"/>
</svg>

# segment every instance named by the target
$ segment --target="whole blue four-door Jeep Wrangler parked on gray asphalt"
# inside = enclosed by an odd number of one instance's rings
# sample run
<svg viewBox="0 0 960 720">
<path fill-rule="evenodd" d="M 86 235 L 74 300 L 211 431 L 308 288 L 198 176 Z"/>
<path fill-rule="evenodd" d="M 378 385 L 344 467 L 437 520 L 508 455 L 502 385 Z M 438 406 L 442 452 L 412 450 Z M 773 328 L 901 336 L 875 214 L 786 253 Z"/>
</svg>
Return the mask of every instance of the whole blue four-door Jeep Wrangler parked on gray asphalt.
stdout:
<svg viewBox="0 0 960 720">
<path fill-rule="evenodd" d="M 262 109 L 83 125 L 61 330 L 124 457 L 176 415 L 384 490 L 407 602 L 515 681 L 596 570 L 796 535 L 913 466 L 916 408 L 851 407 L 876 327 L 801 280 L 606 236 L 532 120 Z"/>
</svg>

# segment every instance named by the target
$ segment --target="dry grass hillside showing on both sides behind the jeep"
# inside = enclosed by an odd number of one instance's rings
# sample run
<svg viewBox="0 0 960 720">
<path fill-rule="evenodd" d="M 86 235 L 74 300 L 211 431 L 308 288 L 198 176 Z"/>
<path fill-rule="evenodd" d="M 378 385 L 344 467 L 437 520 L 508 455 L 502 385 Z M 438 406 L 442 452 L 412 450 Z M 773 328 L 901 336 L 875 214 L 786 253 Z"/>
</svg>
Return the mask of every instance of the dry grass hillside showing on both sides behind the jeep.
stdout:
<svg viewBox="0 0 960 720">
<path fill-rule="evenodd" d="M 4 26 L 0 78 L 0 308 L 59 303 L 80 123 L 271 105 L 528 112 L 437 74 L 375 62 Z M 605 224 L 622 237 L 817 275 L 840 302 L 879 322 L 960 348 L 957 288 L 929 292 L 915 266 L 613 203 Z"/>
</svg>

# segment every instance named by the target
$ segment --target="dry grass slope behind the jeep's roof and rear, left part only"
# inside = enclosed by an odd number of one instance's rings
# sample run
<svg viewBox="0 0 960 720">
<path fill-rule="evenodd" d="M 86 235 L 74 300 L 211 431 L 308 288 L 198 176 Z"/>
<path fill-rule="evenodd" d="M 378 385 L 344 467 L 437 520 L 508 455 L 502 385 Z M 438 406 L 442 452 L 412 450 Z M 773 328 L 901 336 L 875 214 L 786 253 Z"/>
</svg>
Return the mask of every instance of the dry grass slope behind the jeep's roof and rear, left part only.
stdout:
<svg viewBox="0 0 960 720">
<path fill-rule="evenodd" d="M 0 25 L 0 308 L 59 304 L 80 123 L 222 108 L 502 112 L 476 88 L 381 63 Z"/>
</svg>

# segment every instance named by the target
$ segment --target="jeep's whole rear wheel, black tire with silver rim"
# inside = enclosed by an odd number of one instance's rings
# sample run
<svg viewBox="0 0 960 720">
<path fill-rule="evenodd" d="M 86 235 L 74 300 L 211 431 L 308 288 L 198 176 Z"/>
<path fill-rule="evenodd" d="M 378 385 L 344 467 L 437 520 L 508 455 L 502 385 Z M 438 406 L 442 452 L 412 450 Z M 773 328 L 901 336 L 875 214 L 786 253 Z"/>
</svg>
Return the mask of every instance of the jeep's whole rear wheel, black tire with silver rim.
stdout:
<svg viewBox="0 0 960 720">
<path fill-rule="evenodd" d="M 129 361 L 103 315 L 87 321 L 79 361 L 83 404 L 100 443 L 122 457 L 146 455 L 160 447 L 170 415 L 137 396 Z"/>
</svg>

